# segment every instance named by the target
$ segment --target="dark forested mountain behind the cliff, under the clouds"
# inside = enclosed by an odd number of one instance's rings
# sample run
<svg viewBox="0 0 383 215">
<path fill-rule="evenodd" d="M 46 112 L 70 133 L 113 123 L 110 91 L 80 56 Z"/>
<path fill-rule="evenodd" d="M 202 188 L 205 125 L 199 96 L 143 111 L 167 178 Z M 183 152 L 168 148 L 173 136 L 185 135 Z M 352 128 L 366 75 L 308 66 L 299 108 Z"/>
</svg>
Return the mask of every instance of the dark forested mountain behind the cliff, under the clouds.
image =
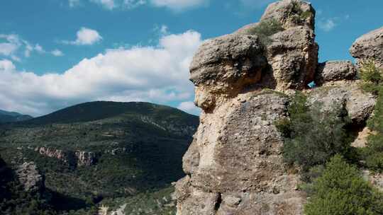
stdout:
<svg viewBox="0 0 383 215">
<path fill-rule="evenodd" d="M 14 168 L 33 161 L 57 213 L 82 214 L 110 199 L 169 196 L 198 125 L 165 105 L 82 103 L 0 125 L 0 156 Z"/>
</svg>

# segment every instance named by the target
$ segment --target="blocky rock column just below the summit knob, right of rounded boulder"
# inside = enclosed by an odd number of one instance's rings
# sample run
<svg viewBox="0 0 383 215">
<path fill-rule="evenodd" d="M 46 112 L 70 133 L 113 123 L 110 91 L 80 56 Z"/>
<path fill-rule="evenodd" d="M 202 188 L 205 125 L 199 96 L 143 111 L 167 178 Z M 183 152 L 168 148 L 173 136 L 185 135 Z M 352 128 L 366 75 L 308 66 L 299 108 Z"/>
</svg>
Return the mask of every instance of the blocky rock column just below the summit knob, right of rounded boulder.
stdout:
<svg viewBox="0 0 383 215">
<path fill-rule="evenodd" d="M 267 60 L 271 69 L 262 79 L 266 86 L 284 91 L 304 88 L 313 81 L 318 64 L 318 45 L 311 28 L 289 28 L 272 35 L 270 39 Z"/>
</svg>

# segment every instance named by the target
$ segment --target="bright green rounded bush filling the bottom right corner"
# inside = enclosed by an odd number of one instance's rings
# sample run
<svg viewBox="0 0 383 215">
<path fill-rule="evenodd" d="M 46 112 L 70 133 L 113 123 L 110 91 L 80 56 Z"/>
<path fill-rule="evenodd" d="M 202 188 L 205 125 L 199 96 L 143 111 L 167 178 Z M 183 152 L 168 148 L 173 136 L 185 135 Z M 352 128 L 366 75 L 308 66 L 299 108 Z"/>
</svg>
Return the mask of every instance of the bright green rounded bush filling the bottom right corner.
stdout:
<svg viewBox="0 0 383 215">
<path fill-rule="evenodd" d="M 383 194 L 363 180 L 357 168 L 335 156 L 313 183 L 313 194 L 304 212 L 306 215 L 383 214 Z"/>
</svg>

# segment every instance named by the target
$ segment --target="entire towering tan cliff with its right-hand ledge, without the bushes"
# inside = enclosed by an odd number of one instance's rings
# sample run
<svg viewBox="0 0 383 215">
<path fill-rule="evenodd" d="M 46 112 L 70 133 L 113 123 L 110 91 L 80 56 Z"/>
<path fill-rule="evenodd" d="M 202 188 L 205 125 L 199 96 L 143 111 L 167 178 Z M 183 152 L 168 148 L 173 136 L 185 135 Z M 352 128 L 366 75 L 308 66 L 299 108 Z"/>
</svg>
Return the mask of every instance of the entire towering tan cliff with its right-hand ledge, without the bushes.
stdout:
<svg viewBox="0 0 383 215">
<path fill-rule="evenodd" d="M 357 126 L 365 124 L 374 97 L 354 81 L 351 62 L 318 64 L 314 15 L 306 1 L 278 1 L 260 23 L 208 40 L 196 52 L 191 81 L 203 112 L 183 158 L 187 176 L 176 185 L 178 215 L 303 213 L 299 175 L 284 165 L 274 126 L 288 117 L 286 94 L 304 90 L 310 102 L 345 108 Z M 268 42 L 252 34 L 270 20 L 282 29 Z M 305 89 L 315 80 L 320 87 Z"/>
</svg>

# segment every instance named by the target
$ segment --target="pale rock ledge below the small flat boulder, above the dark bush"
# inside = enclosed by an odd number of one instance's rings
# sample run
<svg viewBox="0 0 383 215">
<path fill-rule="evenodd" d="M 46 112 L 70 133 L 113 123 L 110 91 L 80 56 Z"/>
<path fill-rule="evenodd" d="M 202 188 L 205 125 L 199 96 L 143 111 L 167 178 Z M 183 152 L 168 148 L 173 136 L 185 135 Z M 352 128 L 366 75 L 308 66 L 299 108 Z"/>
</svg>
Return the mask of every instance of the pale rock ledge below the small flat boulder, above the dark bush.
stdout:
<svg viewBox="0 0 383 215">
<path fill-rule="evenodd" d="M 345 108 L 356 124 L 362 124 L 374 110 L 375 98 L 365 93 L 357 81 L 341 82 L 316 88 L 309 95 L 309 103 L 321 103 L 323 111 Z"/>
</svg>

